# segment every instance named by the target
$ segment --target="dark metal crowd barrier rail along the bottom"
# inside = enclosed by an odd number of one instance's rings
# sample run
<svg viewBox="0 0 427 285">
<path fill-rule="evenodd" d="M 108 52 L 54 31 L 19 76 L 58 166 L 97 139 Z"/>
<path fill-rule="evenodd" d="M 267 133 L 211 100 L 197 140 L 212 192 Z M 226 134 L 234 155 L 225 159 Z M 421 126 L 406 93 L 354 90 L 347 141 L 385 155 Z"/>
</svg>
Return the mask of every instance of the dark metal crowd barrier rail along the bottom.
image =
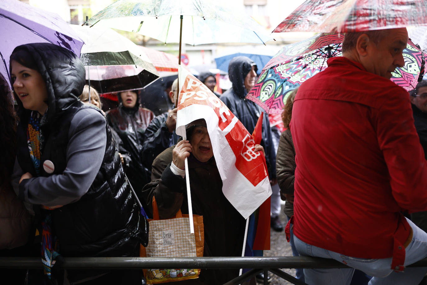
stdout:
<svg viewBox="0 0 427 285">
<path fill-rule="evenodd" d="M 260 272 L 264 272 L 264 284 L 267 284 L 266 276 L 271 272 L 292 284 L 307 285 L 299 281 L 280 268 L 346 268 L 333 259 L 323 259 L 307 256 L 284 257 L 67 257 L 64 258 L 65 269 L 135 269 L 135 268 L 252 268 L 242 276 L 239 276 L 226 285 L 237 285 L 251 279 Z M 409 267 L 427 267 L 427 258 L 422 259 Z M 41 259 L 34 257 L 0 257 L 0 268 L 26 268 L 41 269 Z"/>
</svg>

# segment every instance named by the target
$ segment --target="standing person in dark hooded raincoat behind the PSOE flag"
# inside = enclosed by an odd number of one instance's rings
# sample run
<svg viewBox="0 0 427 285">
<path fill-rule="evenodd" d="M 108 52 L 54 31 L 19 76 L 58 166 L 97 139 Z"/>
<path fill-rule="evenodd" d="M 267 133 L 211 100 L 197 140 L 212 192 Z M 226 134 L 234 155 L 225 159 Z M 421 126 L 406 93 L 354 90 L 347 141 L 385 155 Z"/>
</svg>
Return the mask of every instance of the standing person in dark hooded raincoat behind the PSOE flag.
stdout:
<svg viewBox="0 0 427 285">
<path fill-rule="evenodd" d="M 270 182 L 272 185 L 275 185 L 277 183 L 276 153 L 273 146 L 268 114 L 253 101 L 246 100 L 246 95 L 255 85 L 257 70 L 257 65 L 249 57 L 237 56 L 231 59 L 228 65 L 228 77 L 233 87 L 225 91 L 219 99 L 243 123 L 243 126 L 245 126 L 250 134 L 254 131 L 261 113 L 264 112 L 261 145 L 264 147 L 266 154 Z M 280 203 L 280 200 L 278 202 Z M 263 256 L 263 253 L 260 250 L 254 250 L 253 255 Z M 261 282 L 264 279 L 263 273 L 258 274 L 256 278 Z M 269 276 L 268 279 L 270 279 Z"/>
</svg>

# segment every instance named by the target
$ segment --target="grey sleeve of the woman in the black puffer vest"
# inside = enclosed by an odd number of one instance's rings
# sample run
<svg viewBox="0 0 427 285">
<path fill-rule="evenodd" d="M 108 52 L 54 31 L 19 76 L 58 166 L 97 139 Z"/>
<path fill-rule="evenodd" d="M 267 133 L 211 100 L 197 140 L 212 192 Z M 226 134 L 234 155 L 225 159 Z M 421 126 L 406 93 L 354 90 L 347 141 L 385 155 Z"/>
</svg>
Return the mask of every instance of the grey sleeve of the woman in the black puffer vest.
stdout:
<svg viewBox="0 0 427 285">
<path fill-rule="evenodd" d="M 24 179 L 21 200 L 45 206 L 78 201 L 92 185 L 107 144 L 106 120 L 94 109 L 82 109 L 71 120 L 67 145 L 67 167 L 62 174 Z"/>
</svg>

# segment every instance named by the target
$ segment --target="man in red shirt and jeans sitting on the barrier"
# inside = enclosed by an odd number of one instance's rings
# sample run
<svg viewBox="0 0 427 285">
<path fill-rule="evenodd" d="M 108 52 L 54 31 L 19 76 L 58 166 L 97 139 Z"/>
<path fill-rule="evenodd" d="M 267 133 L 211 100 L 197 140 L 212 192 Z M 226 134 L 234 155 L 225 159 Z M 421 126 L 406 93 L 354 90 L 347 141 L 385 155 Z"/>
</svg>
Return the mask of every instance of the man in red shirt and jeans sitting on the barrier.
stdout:
<svg viewBox="0 0 427 285">
<path fill-rule="evenodd" d="M 353 267 L 304 269 L 307 284 L 349 284 L 354 268 L 371 285 L 418 284 L 427 272 L 405 268 L 427 256 L 427 234 L 401 214 L 427 210 L 409 94 L 390 81 L 407 40 L 405 28 L 348 33 L 343 56 L 295 97 L 295 246 Z"/>
</svg>

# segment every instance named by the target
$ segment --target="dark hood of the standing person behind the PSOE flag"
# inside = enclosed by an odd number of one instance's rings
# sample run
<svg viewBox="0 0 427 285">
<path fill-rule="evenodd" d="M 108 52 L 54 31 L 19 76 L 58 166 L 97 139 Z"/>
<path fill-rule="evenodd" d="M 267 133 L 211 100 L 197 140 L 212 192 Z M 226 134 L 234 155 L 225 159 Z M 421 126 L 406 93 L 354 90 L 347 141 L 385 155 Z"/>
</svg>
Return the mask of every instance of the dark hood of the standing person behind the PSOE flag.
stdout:
<svg viewBox="0 0 427 285">
<path fill-rule="evenodd" d="M 234 93 L 241 98 L 246 97 L 246 94 L 248 94 L 245 88 L 245 78 L 251 71 L 252 66 L 255 67 L 255 72 L 257 72 L 256 63 L 246 56 L 234 57 L 228 65 L 228 77 L 233 84 Z"/>
</svg>

